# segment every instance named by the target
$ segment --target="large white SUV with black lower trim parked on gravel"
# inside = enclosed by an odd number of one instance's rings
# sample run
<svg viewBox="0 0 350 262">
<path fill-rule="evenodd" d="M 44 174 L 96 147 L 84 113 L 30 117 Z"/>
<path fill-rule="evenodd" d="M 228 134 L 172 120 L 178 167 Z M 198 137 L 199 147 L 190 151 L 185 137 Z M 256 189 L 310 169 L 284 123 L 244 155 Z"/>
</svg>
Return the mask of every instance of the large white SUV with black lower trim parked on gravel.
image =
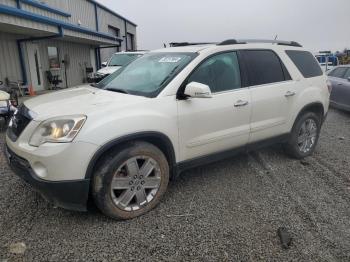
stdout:
<svg viewBox="0 0 350 262">
<path fill-rule="evenodd" d="M 112 218 L 154 208 L 184 169 L 283 143 L 314 151 L 329 106 L 295 42 L 227 40 L 152 51 L 98 84 L 26 101 L 7 132 L 14 171 L 56 206 Z"/>
</svg>

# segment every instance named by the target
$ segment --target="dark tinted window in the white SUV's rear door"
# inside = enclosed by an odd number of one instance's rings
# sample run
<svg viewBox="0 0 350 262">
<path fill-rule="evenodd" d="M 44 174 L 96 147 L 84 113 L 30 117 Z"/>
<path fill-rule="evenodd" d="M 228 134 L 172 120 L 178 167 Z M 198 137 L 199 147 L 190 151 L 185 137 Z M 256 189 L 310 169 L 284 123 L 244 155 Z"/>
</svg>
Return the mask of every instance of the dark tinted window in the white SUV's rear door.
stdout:
<svg viewBox="0 0 350 262">
<path fill-rule="evenodd" d="M 247 64 L 250 86 L 290 80 L 290 75 L 280 58 L 270 50 L 242 51 Z"/>
</svg>

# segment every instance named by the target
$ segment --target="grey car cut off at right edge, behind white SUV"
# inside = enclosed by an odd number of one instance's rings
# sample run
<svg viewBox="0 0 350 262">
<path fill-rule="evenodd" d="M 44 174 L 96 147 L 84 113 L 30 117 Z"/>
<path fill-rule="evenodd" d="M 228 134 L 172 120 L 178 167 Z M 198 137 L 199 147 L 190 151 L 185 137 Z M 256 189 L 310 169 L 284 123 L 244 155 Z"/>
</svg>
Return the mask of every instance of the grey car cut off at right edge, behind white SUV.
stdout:
<svg viewBox="0 0 350 262">
<path fill-rule="evenodd" d="M 334 68 L 328 73 L 328 80 L 332 86 L 331 105 L 350 111 L 350 65 Z"/>
</svg>

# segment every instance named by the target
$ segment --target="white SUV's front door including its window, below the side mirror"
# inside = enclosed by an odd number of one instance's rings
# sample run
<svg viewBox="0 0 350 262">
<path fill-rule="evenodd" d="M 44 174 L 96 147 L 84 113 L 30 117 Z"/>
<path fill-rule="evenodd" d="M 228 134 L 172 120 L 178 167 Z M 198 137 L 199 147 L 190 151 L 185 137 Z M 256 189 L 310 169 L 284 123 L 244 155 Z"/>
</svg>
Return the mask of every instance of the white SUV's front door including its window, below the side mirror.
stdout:
<svg viewBox="0 0 350 262">
<path fill-rule="evenodd" d="M 236 52 L 204 61 L 187 83 L 210 87 L 212 98 L 178 101 L 180 161 L 245 146 L 250 133 L 250 95 L 242 88 Z"/>
</svg>

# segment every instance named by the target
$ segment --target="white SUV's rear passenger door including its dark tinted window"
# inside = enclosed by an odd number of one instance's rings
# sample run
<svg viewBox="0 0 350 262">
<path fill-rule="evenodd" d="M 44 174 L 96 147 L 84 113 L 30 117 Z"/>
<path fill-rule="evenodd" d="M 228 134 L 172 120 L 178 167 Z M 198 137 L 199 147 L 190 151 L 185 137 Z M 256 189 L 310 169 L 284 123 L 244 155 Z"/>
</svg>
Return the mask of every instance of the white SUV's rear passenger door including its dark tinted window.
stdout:
<svg viewBox="0 0 350 262">
<path fill-rule="evenodd" d="M 248 72 L 252 115 L 249 142 L 286 133 L 296 84 L 272 50 L 242 50 Z"/>
</svg>

